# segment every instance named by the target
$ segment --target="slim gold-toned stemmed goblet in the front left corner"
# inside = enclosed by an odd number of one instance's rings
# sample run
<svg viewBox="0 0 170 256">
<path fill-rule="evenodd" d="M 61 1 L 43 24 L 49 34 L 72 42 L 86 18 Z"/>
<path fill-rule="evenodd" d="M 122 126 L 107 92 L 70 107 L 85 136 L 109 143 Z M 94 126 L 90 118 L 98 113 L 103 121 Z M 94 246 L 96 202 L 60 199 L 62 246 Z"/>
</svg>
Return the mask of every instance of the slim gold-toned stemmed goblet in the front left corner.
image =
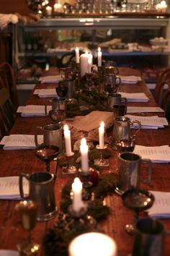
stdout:
<svg viewBox="0 0 170 256">
<path fill-rule="evenodd" d="M 16 210 L 18 210 L 21 215 L 22 228 L 29 232 L 28 242 L 17 244 L 17 249 L 23 255 L 31 255 L 40 248 L 40 244 L 31 241 L 31 231 L 36 224 L 37 205 L 32 200 L 23 200 L 17 203 Z"/>
</svg>

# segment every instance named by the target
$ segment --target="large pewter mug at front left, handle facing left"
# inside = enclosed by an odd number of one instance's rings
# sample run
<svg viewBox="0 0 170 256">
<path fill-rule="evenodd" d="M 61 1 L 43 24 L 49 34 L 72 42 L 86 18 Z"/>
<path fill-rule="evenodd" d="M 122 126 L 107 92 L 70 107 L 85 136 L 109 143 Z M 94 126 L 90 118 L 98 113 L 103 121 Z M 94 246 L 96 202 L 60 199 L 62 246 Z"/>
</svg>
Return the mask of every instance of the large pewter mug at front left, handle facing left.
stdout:
<svg viewBox="0 0 170 256">
<path fill-rule="evenodd" d="M 23 179 L 29 182 L 29 195 L 24 195 Z M 54 194 L 55 175 L 42 171 L 19 175 L 19 192 L 23 199 L 33 200 L 37 205 L 37 221 L 48 221 L 57 214 Z"/>
</svg>

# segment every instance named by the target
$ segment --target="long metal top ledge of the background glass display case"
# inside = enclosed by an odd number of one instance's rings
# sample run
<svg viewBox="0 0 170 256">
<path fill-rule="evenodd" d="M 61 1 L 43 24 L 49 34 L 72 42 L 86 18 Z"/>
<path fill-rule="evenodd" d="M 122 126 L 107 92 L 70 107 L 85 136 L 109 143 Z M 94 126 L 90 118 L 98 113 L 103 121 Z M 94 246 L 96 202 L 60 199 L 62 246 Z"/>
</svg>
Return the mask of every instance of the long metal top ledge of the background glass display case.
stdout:
<svg viewBox="0 0 170 256">
<path fill-rule="evenodd" d="M 114 29 L 151 29 L 166 27 L 168 25 L 169 18 L 163 16 L 155 17 L 119 17 L 119 16 L 107 16 L 107 17 L 49 17 L 40 19 L 37 23 L 30 23 L 23 26 L 19 23 L 19 26 L 24 28 L 25 32 L 31 32 L 32 30 L 46 30 L 50 29 L 102 29 L 103 27 L 114 27 Z"/>
</svg>

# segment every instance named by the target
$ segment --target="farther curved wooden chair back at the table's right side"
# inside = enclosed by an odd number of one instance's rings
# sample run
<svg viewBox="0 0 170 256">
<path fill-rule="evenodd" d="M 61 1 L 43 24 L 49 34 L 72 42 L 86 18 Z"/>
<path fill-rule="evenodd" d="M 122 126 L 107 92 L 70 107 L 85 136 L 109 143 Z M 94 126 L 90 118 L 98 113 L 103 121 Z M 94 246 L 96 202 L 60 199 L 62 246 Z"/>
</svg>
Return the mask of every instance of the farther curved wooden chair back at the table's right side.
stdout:
<svg viewBox="0 0 170 256">
<path fill-rule="evenodd" d="M 156 88 L 154 90 L 154 98 L 158 103 L 158 106 L 161 106 L 161 103 L 164 98 L 164 90 L 170 85 L 170 68 L 165 69 L 158 75 L 156 81 Z"/>
</svg>

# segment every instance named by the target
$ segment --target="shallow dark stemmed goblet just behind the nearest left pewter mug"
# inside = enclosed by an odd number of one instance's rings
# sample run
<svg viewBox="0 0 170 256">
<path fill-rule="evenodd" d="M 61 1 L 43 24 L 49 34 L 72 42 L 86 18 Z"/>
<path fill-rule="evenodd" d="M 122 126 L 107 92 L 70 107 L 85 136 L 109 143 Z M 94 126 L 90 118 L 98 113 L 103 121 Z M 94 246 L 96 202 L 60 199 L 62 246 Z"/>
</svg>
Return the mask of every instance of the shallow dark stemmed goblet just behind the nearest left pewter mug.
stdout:
<svg viewBox="0 0 170 256">
<path fill-rule="evenodd" d="M 46 171 L 50 172 L 50 161 L 58 156 L 59 148 L 54 145 L 42 145 L 35 149 L 35 155 L 46 163 Z"/>
</svg>

